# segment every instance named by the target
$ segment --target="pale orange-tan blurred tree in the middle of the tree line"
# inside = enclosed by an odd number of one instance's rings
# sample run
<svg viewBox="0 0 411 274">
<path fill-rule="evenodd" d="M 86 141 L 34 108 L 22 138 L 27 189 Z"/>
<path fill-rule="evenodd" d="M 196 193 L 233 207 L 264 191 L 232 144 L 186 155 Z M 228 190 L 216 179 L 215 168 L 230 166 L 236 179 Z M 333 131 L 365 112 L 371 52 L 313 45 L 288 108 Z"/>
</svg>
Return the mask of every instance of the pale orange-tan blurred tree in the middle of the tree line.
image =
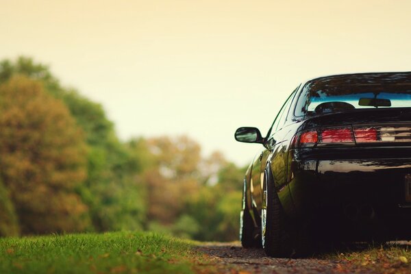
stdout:
<svg viewBox="0 0 411 274">
<path fill-rule="evenodd" d="M 166 136 L 147 140 L 154 160 L 145 173 L 147 219 L 164 225 L 182 214 L 184 203 L 199 190 L 200 147 L 187 136 Z"/>
</svg>

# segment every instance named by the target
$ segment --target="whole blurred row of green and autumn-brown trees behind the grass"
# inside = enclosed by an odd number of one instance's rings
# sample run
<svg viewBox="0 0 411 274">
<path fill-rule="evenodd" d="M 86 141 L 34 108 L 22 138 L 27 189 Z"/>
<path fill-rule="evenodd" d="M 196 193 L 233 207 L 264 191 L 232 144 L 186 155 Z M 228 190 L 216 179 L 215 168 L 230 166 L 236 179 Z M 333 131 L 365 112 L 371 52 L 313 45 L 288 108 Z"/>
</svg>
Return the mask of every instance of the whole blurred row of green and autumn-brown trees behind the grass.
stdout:
<svg viewBox="0 0 411 274">
<path fill-rule="evenodd" d="M 99 103 L 31 58 L 0 62 L 0 128 L 0 236 L 238 236 L 245 168 L 188 136 L 119 140 Z"/>
</svg>

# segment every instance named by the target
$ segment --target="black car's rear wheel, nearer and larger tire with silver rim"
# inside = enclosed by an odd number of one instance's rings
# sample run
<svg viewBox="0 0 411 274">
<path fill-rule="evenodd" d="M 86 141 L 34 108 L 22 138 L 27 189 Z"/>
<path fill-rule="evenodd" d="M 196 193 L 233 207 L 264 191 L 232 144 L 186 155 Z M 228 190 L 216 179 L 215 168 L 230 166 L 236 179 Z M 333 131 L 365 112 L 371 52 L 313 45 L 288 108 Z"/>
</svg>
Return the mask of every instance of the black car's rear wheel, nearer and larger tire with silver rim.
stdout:
<svg viewBox="0 0 411 274">
<path fill-rule="evenodd" d="M 275 191 L 271 171 L 268 169 L 264 172 L 263 195 L 261 234 L 264 251 L 271 257 L 290 258 L 295 252 L 287 233 L 284 210 Z"/>
</svg>

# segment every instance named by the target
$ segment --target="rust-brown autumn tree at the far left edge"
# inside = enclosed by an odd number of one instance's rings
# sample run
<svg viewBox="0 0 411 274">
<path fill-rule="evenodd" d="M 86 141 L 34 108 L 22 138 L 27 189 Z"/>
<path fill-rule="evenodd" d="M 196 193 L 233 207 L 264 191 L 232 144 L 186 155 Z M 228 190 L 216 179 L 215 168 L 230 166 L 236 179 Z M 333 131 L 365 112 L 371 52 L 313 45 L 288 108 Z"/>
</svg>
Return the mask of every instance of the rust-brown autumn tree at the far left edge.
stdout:
<svg viewBox="0 0 411 274">
<path fill-rule="evenodd" d="M 23 233 L 83 231 L 88 208 L 75 194 L 86 179 L 86 144 L 69 110 L 42 84 L 0 84 L 0 179 Z"/>
</svg>

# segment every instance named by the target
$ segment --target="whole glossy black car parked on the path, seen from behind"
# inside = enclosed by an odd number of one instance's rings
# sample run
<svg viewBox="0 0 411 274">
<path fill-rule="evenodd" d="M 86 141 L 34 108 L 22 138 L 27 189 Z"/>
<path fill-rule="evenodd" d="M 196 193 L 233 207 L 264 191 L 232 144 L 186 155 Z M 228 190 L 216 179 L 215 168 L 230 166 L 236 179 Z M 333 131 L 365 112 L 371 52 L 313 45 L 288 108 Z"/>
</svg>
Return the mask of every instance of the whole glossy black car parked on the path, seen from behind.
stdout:
<svg viewBox="0 0 411 274">
<path fill-rule="evenodd" d="M 264 114 L 265 115 L 265 114 Z M 411 72 L 311 79 L 279 110 L 244 179 L 240 240 L 269 256 L 411 239 Z"/>
</svg>

